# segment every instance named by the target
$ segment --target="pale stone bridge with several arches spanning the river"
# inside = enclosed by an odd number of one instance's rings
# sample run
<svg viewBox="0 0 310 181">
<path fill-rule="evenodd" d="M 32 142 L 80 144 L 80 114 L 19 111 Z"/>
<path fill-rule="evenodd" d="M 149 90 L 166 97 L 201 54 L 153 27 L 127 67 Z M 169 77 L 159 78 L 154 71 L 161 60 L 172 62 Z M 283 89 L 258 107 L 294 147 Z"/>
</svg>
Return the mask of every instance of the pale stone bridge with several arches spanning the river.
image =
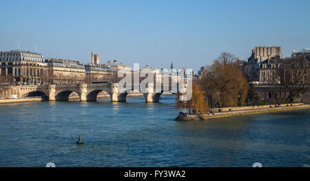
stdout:
<svg viewBox="0 0 310 181">
<path fill-rule="evenodd" d="M 17 88 L 17 94 L 19 98 L 28 96 L 42 96 L 46 100 L 59 101 L 59 100 L 69 100 L 69 96 L 72 92 L 79 95 L 82 102 L 86 101 L 96 101 L 99 92 L 106 92 L 110 95 L 112 102 L 125 102 L 127 94 L 132 90 L 138 89 L 139 85 L 129 86 L 129 89 L 121 89 L 118 87 L 118 83 L 98 83 L 98 84 L 77 84 L 77 85 L 20 85 L 15 86 Z M 183 84 L 180 87 L 180 92 L 186 92 L 187 85 Z M 156 91 L 156 86 L 149 83 L 145 89 L 141 92 L 145 97 L 146 103 L 158 103 L 163 90 L 177 92 L 178 85 L 169 87 L 163 87 L 161 85 L 161 91 Z"/>
</svg>

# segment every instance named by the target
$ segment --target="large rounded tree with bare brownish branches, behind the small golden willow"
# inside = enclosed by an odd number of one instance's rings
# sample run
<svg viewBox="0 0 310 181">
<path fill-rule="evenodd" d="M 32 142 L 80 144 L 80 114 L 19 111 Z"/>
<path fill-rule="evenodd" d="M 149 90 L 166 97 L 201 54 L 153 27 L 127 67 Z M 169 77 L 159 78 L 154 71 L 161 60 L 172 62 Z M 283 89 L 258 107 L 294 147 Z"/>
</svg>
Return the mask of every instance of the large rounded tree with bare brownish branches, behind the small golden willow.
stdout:
<svg viewBox="0 0 310 181">
<path fill-rule="evenodd" d="M 249 83 L 235 63 L 234 55 L 222 53 L 200 79 L 212 107 L 244 105 Z"/>
</svg>

